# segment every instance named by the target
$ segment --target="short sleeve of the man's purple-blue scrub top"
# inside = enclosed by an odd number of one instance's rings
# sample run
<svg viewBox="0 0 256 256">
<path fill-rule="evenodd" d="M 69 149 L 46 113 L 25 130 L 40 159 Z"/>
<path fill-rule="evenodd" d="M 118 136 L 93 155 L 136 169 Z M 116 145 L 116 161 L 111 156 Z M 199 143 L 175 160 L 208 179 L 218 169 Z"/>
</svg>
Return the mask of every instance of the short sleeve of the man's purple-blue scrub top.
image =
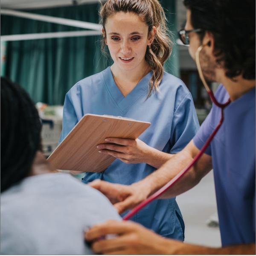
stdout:
<svg viewBox="0 0 256 256">
<path fill-rule="evenodd" d="M 211 126 L 211 120 L 212 120 L 212 110 L 210 111 L 210 113 L 208 114 L 208 116 L 206 117 L 204 122 L 202 123 L 198 133 L 193 138 L 193 142 L 199 150 L 201 150 L 204 143 L 206 143 L 207 139 L 212 134 L 213 128 Z M 208 155 L 212 155 L 210 145 L 207 147 L 207 149 L 204 153 L 206 153 Z"/>
</svg>

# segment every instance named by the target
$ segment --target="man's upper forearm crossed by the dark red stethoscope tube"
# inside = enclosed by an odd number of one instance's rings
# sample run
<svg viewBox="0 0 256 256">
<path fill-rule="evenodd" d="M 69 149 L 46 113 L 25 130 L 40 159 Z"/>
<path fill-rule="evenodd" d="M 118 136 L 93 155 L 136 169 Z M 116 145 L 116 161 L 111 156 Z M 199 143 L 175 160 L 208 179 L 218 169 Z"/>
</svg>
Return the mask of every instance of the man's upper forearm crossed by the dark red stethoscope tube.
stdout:
<svg viewBox="0 0 256 256">
<path fill-rule="evenodd" d="M 180 151 L 178 154 L 172 156 L 160 169 L 156 170 L 154 173 L 145 177 L 145 179 L 134 183 L 136 186 L 142 186 L 144 189 L 148 190 L 149 195 L 156 192 L 173 177 L 175 177 L 180 171 L 182 171 L 195 157 L 195 153 L 199 151 L 194 150 L 195 146 L 190 142 L 187 148 Z M 171 189 L 166 191 L 161 198 L 170 198 L 180 195 L 183 192 L 191 189 L 195 186 L 204 175 L 206 175 L 211 170 L 211 157 L 203 154 L 198 163 L 192 167 L 189 172 L 187 172 Z"/>
</svg>

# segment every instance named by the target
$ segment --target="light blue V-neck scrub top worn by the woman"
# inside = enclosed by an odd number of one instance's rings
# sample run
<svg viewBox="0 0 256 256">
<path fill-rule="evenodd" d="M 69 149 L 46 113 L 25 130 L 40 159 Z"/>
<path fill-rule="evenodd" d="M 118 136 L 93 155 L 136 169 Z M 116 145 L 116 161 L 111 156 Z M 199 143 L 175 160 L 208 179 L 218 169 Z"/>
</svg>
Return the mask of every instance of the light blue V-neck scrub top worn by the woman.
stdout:
<svg viewBox="0 0 256 256">
<path fill-rule="evenodd" d="M 107 114 L 151 122 L 139 139 L 164 152 L 180 151 L 199 128 L 191 94 L 180 79 L 164 73 L 160 93 L 146 99 L 151 76 L 152 73 L 148 73 L 126 97 L 116 86 L 109 67 L 79 81 L 66 95 L 60 141 L 84 114 Z M 145 163 L 125 164 L 116 159 L 102 173 L 87 172 L 83 182 L 99 178 L 131 184 L 154 171 L 154 167 Z M 184 223 L 175 198 L 155 200 L 132 220 L 162 236 L 184 239 Z"/>
</svg>

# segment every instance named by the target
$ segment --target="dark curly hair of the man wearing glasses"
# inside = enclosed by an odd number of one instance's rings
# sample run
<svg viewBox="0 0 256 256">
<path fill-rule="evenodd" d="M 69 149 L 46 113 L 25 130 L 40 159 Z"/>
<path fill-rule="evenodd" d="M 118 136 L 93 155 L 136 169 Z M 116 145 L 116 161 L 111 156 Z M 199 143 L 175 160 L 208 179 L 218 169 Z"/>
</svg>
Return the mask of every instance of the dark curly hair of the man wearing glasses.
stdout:
<svg viewBox="0 0 256 256">
<path fill-rule="evenodd" d="M 191 24 L 214 36 L 215 57 L 230 79 L 255 79 L 255 0 L 184 0 Z"/>
</svg>

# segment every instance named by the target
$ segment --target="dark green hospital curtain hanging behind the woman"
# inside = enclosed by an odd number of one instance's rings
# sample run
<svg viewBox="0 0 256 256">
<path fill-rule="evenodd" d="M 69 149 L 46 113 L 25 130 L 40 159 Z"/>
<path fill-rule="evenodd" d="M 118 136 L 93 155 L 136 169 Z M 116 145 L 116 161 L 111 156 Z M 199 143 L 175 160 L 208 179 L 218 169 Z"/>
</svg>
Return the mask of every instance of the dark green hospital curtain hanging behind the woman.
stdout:
<svg viewBox="0 0 256 256">
<path fill-rule="evenodd" d="M 176 24 L 175 1 L 162 1 L 170 29 Z M 24 10 L 55 17 L 99 23 L 99 4 Z M 1 15 L 1 35 L 81 30 L 76 27 Z M 64 103 L 67 91 L 77 81 L 111 64 L 100 49 L 100 36 L 12 41 L 7 44 L 5 76 L 25 88 L 34 102 Z M 165 69 L 178 76 L 177 53 Z"/>
</svg>

